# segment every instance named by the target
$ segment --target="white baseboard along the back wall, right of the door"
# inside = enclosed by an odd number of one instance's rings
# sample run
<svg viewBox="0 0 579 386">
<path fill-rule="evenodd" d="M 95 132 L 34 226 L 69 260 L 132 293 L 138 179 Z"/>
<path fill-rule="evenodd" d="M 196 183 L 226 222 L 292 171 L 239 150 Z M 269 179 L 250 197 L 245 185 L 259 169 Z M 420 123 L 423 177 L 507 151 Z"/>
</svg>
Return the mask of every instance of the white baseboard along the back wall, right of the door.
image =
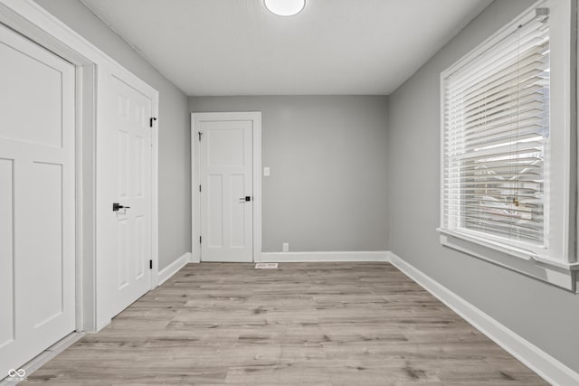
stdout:
<svg viewBox="0 0 579 386">
<path fill-rule="evenodd" d="M 388 261 L 388 251 L 359 252 L 261 252 L 263 263 L 307 263 L 316 261 Z"/>
</svg>

